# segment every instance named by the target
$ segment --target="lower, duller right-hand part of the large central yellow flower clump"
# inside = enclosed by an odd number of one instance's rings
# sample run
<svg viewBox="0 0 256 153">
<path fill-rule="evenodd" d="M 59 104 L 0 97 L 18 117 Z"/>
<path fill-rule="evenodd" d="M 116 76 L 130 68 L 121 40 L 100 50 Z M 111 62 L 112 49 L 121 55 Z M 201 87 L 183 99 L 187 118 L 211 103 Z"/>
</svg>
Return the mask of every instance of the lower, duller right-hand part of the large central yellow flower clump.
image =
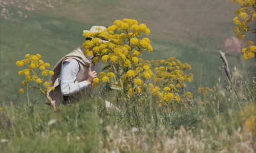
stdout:
<svg viewBox="0 0 256 153">
<path fill-rule="evenodd" d="M 188 104 L 193 96 L 185 96 L 181 94 L 181 89 L 184 88 L 184 83 L 191 82 L 193 80 L 193 74 L 184 74 L 184 70 L 191 70 L 191 66 L 187 63 L 181 63 L 180 60 L 175 57 L 168 58 L 167 60 L 152 60 L 151 64 L 146 62 L 143 65 L 144 70 L 154 68 L 151 80 L 153 83 L 148 84 L 148 88 L 153 92 L 154 95 L 158 96 L 162 104 L 177 105 L 180 101 L 184 104 Z M 162 91 L 161 91 L 161 89 Z M 186 95 L 186 94 L 185 94 Z M 187 98 L 189 97 L 189 98 Z M 173 108 L 173 107 L 172 107 Z"/>
</svg>

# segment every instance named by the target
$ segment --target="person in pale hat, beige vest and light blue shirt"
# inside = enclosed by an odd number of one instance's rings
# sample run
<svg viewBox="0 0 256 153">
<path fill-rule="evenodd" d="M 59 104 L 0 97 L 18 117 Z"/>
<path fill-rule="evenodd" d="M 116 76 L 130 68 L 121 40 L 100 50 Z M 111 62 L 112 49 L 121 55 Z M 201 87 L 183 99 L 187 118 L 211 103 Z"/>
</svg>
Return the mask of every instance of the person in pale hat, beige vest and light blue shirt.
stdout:
<svg viewBox="0 0 256 153">
<path fill-rule="evenodd" d="M 102 26 L 93 26 L 90 31 L 97 32 L 105 30 Z M 92 38 L 87 38 L 90 41 Z M 107 42 L 102 40 L 102 42 Z M 93 79 L 97 77 L 100 62 L 93 64 L 93 58 L 86 57 L 83 54 L 83 47 L 75 49 L 70 54 L 61 58 L 53 68 L 54 75 L 50 78 L 51 86 L 55 90 L 48 92 L 48 98 L 55 107 L 59 104 L 66 104 L 71 101 L 79 101 L 87 99 L 91 96 L 91 84 Z"/>
</svg>

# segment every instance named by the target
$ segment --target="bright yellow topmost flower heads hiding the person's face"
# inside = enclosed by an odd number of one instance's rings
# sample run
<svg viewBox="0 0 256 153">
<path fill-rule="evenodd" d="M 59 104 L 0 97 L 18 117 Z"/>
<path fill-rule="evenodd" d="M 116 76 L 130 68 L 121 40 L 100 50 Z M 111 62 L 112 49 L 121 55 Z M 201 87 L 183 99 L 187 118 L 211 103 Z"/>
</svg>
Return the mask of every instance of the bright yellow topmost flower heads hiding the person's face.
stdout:
<svg viewBox="0 0 256 153">
<path fill-rule="evenodd" d="M 139 39 L 143 33 L 148 35 L 150 30 L 145 24 L 138 25 L 137 20 L 126 18 L 116 20 L 114 25 L 104 31 L 83 34 L 85 37 L 93 38 L 83 43 L 84 55 L 97 56 L 96 59 L 94 58 L 94 63 L 101 59 L 105 63 L 120 64 L 122 67 L 129 68 L 133 63 L 138 63 L 137 57 L 144 50 L 153 51 L 150 39 Z"/>
</svg>

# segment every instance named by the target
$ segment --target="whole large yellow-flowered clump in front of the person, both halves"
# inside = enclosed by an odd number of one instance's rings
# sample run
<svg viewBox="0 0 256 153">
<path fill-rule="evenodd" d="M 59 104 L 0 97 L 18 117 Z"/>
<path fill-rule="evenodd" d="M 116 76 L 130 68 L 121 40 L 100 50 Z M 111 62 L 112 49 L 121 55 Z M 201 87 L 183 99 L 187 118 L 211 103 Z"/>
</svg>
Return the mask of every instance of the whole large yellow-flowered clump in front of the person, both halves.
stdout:
<svg viewBox="0 0 256 153">
<path fill-rule="evenodd" d="M 94 55 L 93 63 L 100 60 L 106 63 L 93 80 L 93 88 L 104 86 L 105 94 L 118 91 L 126 105 L 140 101 L 148 92 L 157 98 L 159 106 L 174 109 L 189 104 L 193 97 L 184 91 L 184 83 L 191 82 L 193 75 L 183 72 L 191 69 L 189 64 L 183 64 L 175 57 L 154 61 L 139 58 L 144 51 L 153 51 L 150 39 L 142 38 L 150 34 L 145 24 L 138 25 L 137 20 L 125 18 L 114 21 L 104 31 L 98 30 L 83 34 L 93 38 L 84 42 L 84 55 Z"/>
</svg>

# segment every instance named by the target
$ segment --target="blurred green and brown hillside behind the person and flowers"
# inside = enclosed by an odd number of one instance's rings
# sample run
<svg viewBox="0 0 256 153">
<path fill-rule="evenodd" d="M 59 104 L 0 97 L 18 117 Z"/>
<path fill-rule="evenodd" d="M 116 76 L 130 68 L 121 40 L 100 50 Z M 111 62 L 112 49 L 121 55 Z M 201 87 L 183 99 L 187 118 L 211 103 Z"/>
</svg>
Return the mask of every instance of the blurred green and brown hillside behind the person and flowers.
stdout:
<svg viewBox="0 0 256 153">
<path fill-rule="evenodd" d="M 84 42 L 82 31 L 93 25 L 111 26 L 117 19 L 136 19 L 150 30 L 154 51 L 143 59 L 167 59 L 175 56 L 191 65 L 194 81 L 188 88 L 208 86 L 210 81 L 226 79 L 219 50 L 226 53 L 230 70 L 255 73 L 255 59 L 243 60 L 240 52 L 247 40 L 236 38 L 234 11 L 238 5 L 229 1 L 205 0 L 97 0 L 32 1 L 0 0 L 0 101 L 18 103 L 22 68 L 17 60 L 27 53 L 41 54 L 51 68 L 64 55 Z M 255 27 L 255 23 L 252 23 Z M 33 97 L 33 95 L 32 95 Z M 35 99 L 37 93 L 34 95 Z"/>
</svg>

